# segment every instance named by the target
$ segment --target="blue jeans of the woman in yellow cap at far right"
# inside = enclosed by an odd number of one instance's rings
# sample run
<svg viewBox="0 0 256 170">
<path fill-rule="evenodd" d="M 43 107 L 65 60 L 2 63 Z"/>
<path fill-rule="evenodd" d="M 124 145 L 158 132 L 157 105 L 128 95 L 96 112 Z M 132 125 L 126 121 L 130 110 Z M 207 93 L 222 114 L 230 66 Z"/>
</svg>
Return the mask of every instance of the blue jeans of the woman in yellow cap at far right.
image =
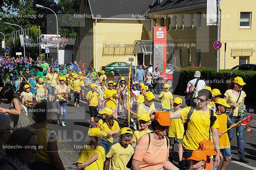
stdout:
<svg viewBox="0 0 256 170">
<path fill-rule="evenodd" d="M 231 121 L 233 123 L 237 123 L 240 120 L 244 119 L 244 116 L 232 116 Z M 245 151 L 244 151 L 244 126 L 238 126 L 236 128 L 236 136 L 237 136 L 237 148 L 238 148 L 238 157 L 244 157 Z M 227 131 L 227 134 L 229 135 L 229 141 L 232 140 L 234 136 L 234 128 L 231 128 L 229 131 Z M 239 135 L 237 135 L 237 132 L 239 132 Z"/>
</svg>

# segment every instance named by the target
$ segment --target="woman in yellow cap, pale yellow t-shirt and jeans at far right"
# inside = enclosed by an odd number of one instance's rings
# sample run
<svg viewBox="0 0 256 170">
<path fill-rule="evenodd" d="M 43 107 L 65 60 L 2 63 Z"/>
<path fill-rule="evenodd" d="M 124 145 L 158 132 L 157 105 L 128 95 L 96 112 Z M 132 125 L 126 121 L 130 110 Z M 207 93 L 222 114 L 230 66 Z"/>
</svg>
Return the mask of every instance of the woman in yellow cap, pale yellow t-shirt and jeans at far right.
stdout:
<svg viewBox="0 0 256 170">
<path fill-rule="evenodd" d="M 228 84 L 229 90 L 227 90 L 224 94 L 224 99 L 226 99 L 227 104 L 230 105 L 229 111 L 233 115 L 229 115 L 232 122 L 237 123 L 244 119 L 244 98 L 246 94 L 242 91 L 243 86 L 246 83 L 243 81 L 241 77 L 236 77 L 234 79 L 230 79 L 230 83 Z M 227 131 L 229 135 L 229 141 L 232 140 L 234 136 L 235 128 L 231 128 Z M 245 151 L 244 151 L 244 127 L 238 126 L 236 128 L 236 137 L 237 137 L 237 147 L 238 147 L 238 157 L 239 161 L 243 163 L 248 163 L 249 160 L 245 158 Z"/>
</svg>

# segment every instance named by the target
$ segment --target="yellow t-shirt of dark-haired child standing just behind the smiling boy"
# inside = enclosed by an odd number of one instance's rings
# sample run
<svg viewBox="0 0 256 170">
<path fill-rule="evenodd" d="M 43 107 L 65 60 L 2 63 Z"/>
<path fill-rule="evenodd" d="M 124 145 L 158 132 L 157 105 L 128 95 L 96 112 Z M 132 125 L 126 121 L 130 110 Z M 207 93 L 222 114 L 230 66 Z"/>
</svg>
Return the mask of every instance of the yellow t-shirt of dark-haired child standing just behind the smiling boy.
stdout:
<svg viewBox="0 0 256 170">
<path fill-rule="evenodd" d="M 119 125 L 118 125 L 118 123 L 117 123 L 116 120 L 114 120 L 114 125 L 112 126 L 112 128 L 109 128 L 109 126 L 107 125 L 107 123 L 106 123 L 106 122 L 103 122 L 102 119 L 99 120 L 98 124 L 99 124 L 99 126 L 101 127 L 101 129 L 104 129 L 104 130 L 107 131 L 107 132 L 120 131 L 120 127 L 119 127 Z M 111 143 L 113 143 L 113 139 L 114 139 L 113 136 L 114 136 L 114 135 L 108 135 L 108 133 L 105 132 L 105 131 L 101 130 L 102 136 L 105 136 L 105 137 L 108 139 L 108 141 L 110 141 Z"/>
</svg>

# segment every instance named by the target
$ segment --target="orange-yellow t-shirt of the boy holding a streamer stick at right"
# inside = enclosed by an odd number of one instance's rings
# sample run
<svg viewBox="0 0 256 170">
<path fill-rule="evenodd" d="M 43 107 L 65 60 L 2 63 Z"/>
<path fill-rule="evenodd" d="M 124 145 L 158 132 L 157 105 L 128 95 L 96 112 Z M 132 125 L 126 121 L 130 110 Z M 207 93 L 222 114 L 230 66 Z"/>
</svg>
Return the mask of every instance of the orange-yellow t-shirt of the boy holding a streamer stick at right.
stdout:
<svg viewBox="0 0 256 170">
<path fill-rule="evenodd" d="M 217 114 L 217 118 L 219 121 L 218 132 L 219 133 L 225 132 L 227 130 L 227 121 L 228 121 L 227 115 L 226 114 Z M 219 148 L 224 149 L 224 148 L 229 148 L 229 147 L 230 147 L 229 136 L 227 135 L 227 133 L 225 133 L 219 138 Z"/>
</svg>

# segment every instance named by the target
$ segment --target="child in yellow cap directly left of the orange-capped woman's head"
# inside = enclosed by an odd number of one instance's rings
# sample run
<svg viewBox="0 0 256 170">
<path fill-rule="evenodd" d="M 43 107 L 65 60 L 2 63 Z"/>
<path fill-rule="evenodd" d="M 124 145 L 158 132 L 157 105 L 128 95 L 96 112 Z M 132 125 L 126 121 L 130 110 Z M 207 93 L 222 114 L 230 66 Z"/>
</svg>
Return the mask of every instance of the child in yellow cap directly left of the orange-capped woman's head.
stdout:
<svg viewBox="0 0 256 170">
<path fill-rule="evenodd" d="M 140 137 L 142 137 L 144 134 L 151 132 L 150 129 L 148 129 L 148 125 L 150 125 L 150 116 L 147 113 L 140 114 L 138 118 L 138 123 L 141 127 L 141 129 L 135 131 L 132 136 L 132 146 L 135 147 Z"/>
</svg>

